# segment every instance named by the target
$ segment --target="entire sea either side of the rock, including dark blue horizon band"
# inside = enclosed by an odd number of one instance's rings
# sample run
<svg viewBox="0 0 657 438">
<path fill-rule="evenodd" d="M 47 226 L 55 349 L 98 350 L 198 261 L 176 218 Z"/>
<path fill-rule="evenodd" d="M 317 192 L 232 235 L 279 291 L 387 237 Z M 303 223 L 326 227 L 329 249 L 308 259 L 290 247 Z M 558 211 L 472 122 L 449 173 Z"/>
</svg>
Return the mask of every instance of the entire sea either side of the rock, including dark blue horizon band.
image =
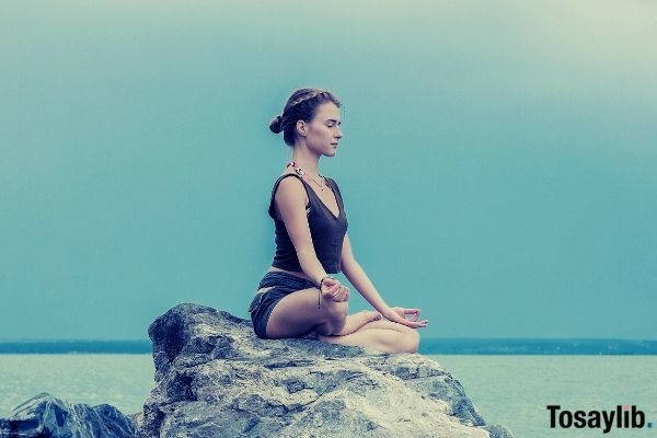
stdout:
<svg viewBox="0 0 657 438">
<path fill-rule="evenodd" d="M 425 342 L 426 341 L 426 342 Z M 654 342 L 613 339 L 423 339 L 418 354 L 443 366 L 488 424 L 516 438 L 657 437 Z M 473 353 L 476 351 L 476 353 Z M 542 353 L 537 353 L 542 351 Z M 564 353 L 567 351 L 567 353 Z M 0 417 L 41 392 L 72 403 L 141 411 L 154 387 L 148 342 L 0 343 Z M 551 427 L 551 411 L 555 427 Z M 562 427 L 576 411 L 635 406 L 643 428 Z M 648 428 L 648 423 L 655 425 Z"/>
</svg>

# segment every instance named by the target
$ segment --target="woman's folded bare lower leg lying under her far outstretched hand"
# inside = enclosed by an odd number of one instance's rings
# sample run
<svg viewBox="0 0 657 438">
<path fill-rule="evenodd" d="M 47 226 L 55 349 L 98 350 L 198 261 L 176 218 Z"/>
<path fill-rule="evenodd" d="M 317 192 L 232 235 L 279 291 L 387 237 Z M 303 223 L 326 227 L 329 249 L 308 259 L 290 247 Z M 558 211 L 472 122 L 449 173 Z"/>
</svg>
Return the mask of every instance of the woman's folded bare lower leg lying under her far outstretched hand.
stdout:
<svg viewBox="0 0 657 438">
<path fill-rule="evenodd" d="M 419 346 L 417 330 L 388 320 L 371 321 L 344 336 L 319 336 L 331 344 L 374 348 L 387 353 L 416 353 Z"/>
</svg>

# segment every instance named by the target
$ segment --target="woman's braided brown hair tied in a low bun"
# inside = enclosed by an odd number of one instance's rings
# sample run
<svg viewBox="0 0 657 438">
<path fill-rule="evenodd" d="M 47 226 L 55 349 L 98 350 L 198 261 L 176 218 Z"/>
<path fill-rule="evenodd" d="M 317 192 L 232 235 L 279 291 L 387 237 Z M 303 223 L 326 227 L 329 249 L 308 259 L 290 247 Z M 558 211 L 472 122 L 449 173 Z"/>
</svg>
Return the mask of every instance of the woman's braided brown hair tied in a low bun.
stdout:
<svg viewBox="0 0 657 438">
<path fill-rule="evenodd" d="M 295 90 L 287 100 L 283 114 L 274 117 L 269 123 L 269 129 L 274 134 L 283 131 L 283 139 L 286 145 L 295 146 L 297 120 L 312 120 L 318 106 L 325 102 L 333 102 L 339 108 L 339 101 L 328 90 L 314 88 Z"/>
</svg>

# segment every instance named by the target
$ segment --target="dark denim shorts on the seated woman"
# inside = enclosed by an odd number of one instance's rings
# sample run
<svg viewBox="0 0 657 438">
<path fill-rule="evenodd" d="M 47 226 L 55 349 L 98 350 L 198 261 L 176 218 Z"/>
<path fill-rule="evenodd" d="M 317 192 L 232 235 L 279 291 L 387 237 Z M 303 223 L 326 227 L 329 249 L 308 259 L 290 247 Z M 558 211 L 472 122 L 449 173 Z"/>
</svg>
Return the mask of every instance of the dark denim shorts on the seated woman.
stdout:
<svg viewBox="0 0 657 438">
<path fill-rule="evenodd" d="M 313 288 L 316 287 L 316 285 L 313 281 L 297 277 L 292 274 L 269 272 L 265 274 L 257 286 L 257 289 L 266 287 L 272 287 L 272 289 L 255 293 L 255 297 L 253 297 L 253 300 L 251 301 L 251 306 L 249 306 L 253 330 L 257 337 L 262 339 L 267 338 L 267 321 L 269 321 L 272 310 L 274 310 L 274 307 L 278 301 L 288 293 L 296 290 Z"/>
</svg>

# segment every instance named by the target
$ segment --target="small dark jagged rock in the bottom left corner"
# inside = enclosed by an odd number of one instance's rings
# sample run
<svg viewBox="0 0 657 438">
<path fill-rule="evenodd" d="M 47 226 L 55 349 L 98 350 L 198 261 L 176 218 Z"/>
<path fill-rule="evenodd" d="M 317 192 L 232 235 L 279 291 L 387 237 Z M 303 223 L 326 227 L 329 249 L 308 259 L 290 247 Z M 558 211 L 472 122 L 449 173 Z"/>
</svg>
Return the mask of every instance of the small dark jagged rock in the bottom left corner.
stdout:
<svg viewBox="0 0 657 438">
<path fill-rule="evenodd" d="M 0 438 L 129 438 L 135 424 L 108 404 L 70 404 L 42 392 L 0 419 Z"/>
</svg>

